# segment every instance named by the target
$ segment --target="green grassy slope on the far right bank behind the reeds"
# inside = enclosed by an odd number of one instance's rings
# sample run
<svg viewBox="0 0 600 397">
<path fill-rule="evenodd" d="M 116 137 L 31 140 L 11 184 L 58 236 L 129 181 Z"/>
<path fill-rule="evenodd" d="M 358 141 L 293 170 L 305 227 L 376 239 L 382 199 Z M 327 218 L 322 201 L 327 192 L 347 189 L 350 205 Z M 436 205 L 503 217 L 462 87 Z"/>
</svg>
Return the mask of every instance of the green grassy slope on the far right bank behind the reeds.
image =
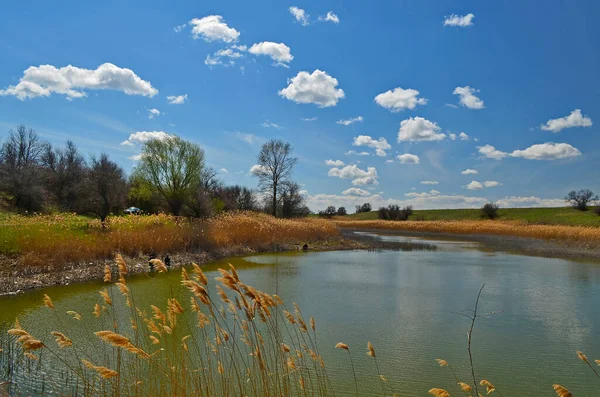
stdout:
<svg viewBox="0 0 600 397">
<path fill-rule="evenodd" d="M 570 207 L 561 208 L 501 208 L 498 213 L 500 220 L 517 220 L 528 223 L 548 225 L 578 225 L 599 226 L 600 216 L 594 212 L 594 208 L 588 211 L 579 211 Z M 415 210 L 411 220 L 424 221 L 458 221 L 478 220 L 481 211 L 479 209 L 458 210 Z M 337 219 L 342 219 L 341 217 Z M 343 217 L 346 220 L 376 220 L 377 211 L 363 212 Z"/>
</svg>

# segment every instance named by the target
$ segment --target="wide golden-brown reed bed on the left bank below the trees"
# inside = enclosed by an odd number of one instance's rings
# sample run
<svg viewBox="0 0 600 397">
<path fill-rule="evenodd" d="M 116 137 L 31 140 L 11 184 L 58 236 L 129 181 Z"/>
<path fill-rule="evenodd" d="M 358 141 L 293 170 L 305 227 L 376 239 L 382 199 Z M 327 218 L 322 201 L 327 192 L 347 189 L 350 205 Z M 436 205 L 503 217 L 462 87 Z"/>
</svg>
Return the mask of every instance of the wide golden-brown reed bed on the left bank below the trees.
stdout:
<svg viewBox="0 0 600 397">
<path fill-rule="evenodd" d="M 336 226 L 324 220 L 277 219 L 251 212 L 205 220 L 165 214 L 112 217 L 105 225 L 76 215 L 12 216 L 1 226 L 0 254 L 19 258 L 25 269 L 108 259 L 114 252 L 133 257 L 240 245 L 264 249 L 338 235 Z"/>
</svg>

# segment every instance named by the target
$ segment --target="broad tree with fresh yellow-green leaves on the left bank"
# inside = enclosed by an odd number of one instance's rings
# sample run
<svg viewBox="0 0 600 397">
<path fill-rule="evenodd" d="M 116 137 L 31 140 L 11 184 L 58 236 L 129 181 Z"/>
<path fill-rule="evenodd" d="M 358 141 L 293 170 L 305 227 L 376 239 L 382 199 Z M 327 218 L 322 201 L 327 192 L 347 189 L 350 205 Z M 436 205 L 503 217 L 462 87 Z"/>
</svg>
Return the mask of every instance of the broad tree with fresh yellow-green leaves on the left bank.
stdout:
<svg viewBox="0 0 600 397">
<path fill-rule="evenodd" d="M 179 215 L 198 188 L 203 169 L 204 151 L 200 146 L 173 136 L 144 144 L 134 176 L 156 191 L 173 215 Z"/>
</svg>

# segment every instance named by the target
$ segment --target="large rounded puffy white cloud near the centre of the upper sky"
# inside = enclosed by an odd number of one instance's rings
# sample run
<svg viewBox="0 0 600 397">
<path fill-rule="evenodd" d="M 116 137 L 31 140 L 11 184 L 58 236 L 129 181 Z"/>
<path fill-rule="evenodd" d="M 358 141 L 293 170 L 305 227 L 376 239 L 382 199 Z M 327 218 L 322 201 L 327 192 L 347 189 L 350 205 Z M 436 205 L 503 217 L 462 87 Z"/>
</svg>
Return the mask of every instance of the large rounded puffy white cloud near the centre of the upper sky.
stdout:
<svg viewBox="0 0 600 397">
<path fill-rule="evenodd" d="M 336 78 L 319 69 L 309 74 L 299 72 L 292 79 L 288 79 L 288 86 L 279 95 L 296 103 L 314 103 L 319 107 L 337 105 L 344 98 L 344 91 L 338 86 Z"/>
</svg>

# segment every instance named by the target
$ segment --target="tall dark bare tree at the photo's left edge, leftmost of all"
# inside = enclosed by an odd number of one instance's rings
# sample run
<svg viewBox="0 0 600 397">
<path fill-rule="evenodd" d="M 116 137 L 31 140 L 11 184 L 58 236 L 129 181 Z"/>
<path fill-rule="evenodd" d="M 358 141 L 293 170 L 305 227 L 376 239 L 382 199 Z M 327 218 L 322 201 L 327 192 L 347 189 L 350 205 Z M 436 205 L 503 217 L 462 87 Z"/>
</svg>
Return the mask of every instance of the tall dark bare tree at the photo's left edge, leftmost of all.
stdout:
<svg viewBox="0 0 600 397">
<path fill-rule="evenodd" d="M 44 202 L 40 160 L 46 143 L 21 125 L 0 146 L 0 191 L 22 210 L 37 211 Z"/>
</svg>

